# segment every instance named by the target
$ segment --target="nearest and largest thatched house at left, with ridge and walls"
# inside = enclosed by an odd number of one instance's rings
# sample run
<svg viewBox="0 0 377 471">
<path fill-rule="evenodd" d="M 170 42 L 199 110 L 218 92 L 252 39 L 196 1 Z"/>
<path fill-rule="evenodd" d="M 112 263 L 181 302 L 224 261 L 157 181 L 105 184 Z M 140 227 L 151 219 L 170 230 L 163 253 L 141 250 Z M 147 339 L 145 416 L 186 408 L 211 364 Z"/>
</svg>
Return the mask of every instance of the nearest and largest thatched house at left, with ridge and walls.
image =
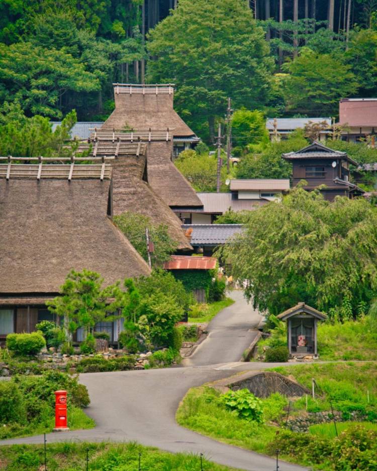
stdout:
<svg viewBox="0 0 377 471">
<path fill-rule="evenodd" d="M 106 285 L 150 272 L 111 220 L 112 168 L 102 160 L 0 164 L 0 341 L 52 320 L 46 300 L 71 269 L 97 271 Z M 115 341 L 120 328 L 108 322 L 98 330 Z"/>
</svg>

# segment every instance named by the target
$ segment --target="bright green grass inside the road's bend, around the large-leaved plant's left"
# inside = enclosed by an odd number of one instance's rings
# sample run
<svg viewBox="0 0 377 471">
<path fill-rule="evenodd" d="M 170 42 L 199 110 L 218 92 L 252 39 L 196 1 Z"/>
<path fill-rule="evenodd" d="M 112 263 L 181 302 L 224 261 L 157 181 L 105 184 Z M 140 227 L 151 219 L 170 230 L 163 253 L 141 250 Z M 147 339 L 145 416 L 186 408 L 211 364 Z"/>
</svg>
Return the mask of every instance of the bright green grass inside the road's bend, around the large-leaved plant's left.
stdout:
<svg viewBox="0 0 377 471">
<path fill-rule="evenodd" d="M 265 453 L 277 428 L 240 419 L 235 412 L 217 404 L 219 395 L 206 386 L 192 388 L 177 410 L 178 424 L 224 443 Z"/>
</svg>

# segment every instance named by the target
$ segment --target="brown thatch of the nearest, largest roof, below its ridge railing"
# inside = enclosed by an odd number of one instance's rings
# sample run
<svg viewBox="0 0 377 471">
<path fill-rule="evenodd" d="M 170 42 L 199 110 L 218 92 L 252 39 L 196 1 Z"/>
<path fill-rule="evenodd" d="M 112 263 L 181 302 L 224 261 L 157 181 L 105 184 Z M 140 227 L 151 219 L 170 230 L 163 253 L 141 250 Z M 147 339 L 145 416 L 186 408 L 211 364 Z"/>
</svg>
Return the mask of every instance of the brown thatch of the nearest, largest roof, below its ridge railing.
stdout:
<svg viewBox="0 0 377 471">
<path fill-rule="evenodd" d="M 56 293 L 70 269 L 106 284 L 150 269 L 107 217 L 111 180 L 0 178 L 0 293 Z"/>
</svg>

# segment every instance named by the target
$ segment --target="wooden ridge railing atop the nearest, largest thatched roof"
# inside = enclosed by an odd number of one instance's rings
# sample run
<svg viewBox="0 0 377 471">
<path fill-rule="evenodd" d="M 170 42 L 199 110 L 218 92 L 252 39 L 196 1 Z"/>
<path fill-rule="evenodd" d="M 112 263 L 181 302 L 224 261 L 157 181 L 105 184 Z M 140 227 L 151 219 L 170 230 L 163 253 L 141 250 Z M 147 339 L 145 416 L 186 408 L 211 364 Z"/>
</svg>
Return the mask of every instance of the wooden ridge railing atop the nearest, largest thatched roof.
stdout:
<svg viewBox="0 0 377 471">
<path fill-rule="evenodd" d="M 114 157 L 1 157 L 0 161 L 6 160 L 6 164 L 0 163 L 0 178 L 6 177 L 7 181 L 11 177 L 14 178 L 32 178 L 35 177 L 38 181 L 41 178 L 67 178 L 71 181 L 72 178 L 100 178 L 103 181 L 105 178 L 111 177 L 111 165 L 107 164 L 108 160 L 113 160 Z M 35 161 L 38 163 L 16 163 L 14 161 Z M 96 160 L 101 161 L 100 164 L 79 164 L 75 165 L 77 161 Z M 57 161 L 69 161 L 70 165 L 62 163 L 47 163 Z M 43 165 L 45 164 L 45 165 Z"/>
</svg>

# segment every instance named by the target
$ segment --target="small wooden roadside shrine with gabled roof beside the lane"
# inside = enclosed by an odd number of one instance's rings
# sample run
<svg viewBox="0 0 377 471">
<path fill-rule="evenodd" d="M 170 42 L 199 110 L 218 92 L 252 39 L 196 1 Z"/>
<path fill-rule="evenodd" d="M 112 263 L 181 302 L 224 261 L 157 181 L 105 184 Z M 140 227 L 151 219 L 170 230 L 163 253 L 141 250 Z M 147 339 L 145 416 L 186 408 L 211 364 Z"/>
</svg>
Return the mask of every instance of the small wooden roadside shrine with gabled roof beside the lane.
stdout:
<svg viewBox="0 0 377 471">
<path fill-rule="evenodd" d="M 317 355 L 317 323 L 327 319 L 326 314 L 299 303 L 277 316 L 287 321 L 288 349 L 292 356 Z"/>
</svg>

